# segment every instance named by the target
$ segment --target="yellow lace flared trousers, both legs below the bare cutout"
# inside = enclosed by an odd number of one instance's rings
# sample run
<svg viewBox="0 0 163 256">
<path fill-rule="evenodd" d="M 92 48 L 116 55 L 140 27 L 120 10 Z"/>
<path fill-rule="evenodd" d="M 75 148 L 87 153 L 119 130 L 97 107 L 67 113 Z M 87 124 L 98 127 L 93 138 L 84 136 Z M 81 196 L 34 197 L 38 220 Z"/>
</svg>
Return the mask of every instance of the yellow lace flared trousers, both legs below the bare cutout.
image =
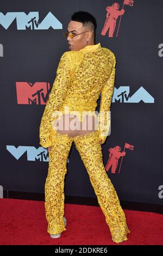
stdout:
<svg viewBox="0 0 163 256">
<path fill-rule="evenodd" d="M 52 132 L 52 147 L 49 151 L 49 168 L 45 183 L 48 233 L 58 234 L 66 230 L 63 219 L 64 179 L 67 172 L 67 157 L 73 141 L 89 174 L 99 206 L 109 226 L 112 241 L 119 243 L 127 240 L 127 234 L 130 231 L 115 188 L 105 171 L 98 131 L 75 137 L 69 137 L 67 134 L 61 135 L 55 130 Z"/>
</svg>

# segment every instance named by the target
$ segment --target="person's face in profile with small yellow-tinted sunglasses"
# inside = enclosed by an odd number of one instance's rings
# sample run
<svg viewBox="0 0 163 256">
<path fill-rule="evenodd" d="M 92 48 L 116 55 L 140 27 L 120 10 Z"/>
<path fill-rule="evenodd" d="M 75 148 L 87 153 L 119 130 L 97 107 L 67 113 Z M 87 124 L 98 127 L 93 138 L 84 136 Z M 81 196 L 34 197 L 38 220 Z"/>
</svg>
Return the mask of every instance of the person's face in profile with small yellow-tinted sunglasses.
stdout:
<svg viewBox="0 0 163 256">
<path fill-rule="evenodd" d="M 85 31 L 87 31 L 87 29 L 83 27 L 82 22 L 70 21 L 68 23 L 67 32 L 69 34 L 77 35 Z M 68 44 L 72 45 L 72 47 L 70 47 L 70 51 L 78 51 L 87 45 L 87 33 L 88 32 L 85 32 L 74 36 L 73 38 L 70 38 L 70 36 L 67 37 Z"/>
</svg>

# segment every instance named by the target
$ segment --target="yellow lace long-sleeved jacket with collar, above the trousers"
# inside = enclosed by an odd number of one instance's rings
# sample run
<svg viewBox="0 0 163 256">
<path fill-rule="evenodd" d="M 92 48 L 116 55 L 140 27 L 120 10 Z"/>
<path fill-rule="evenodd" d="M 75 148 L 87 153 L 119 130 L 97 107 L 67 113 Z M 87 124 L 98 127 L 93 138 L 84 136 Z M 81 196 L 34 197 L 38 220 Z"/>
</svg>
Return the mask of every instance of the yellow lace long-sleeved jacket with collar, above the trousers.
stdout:
<svg viewBox="0 0 163 256">
<path fill-rule="evenodd" d="M 49 99 L 40 124 L 40 144 L 51 146 L 53 112 L 68 106 L 70 111 L 95 111 L 101 94 L 99 113 L 110 111 L 115 83 L 116 58 L 100 43 L 87 45 L 78 51 L 62 54 Z M 109 132 L 109 126 L 107 127 Z M 103 144 L 106 136 L 99 130 Z"/>
</svg>

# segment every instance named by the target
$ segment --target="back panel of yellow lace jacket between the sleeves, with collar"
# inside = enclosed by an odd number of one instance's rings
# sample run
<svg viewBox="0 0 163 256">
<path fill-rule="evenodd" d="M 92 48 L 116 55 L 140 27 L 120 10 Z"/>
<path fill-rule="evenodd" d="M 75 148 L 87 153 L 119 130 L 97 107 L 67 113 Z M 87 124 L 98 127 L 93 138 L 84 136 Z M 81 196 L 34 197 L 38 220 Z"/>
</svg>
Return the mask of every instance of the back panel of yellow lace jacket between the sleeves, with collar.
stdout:
<svg viewBox="0 0 163 256">
<path fill-rule="evenodd" d="M 99 94 L 111 74 L 114 53 L 98 43 L 63 55 L 67 59 L 65 69 L 69 65 L 67 69 L 71 72 L 61 109 L 68 106 L 74 111 L 94 111 Z"/>
</svg>

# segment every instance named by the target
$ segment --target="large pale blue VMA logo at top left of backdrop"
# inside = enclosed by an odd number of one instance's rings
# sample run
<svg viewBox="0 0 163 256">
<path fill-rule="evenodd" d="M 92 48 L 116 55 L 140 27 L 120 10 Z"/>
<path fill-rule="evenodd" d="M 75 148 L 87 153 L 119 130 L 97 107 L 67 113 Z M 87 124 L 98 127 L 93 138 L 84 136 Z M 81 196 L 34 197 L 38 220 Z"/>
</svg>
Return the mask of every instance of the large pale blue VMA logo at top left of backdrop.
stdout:
<svg viewBox="0 0 163 256">
<path fill-rule="evenodd" d="M 8 29 L 11 23 L 16 19 L 17 30 L 37 30 L 37 29 L 62 29 L 62 23 L 49 11 L 46 17 L 40 22 L 39 12 L 30 11 L 27 15 L 24 12 L 14 12 L 3 14 L 0 13 L 0 28 L 1 26 Z"/>
</svg>

